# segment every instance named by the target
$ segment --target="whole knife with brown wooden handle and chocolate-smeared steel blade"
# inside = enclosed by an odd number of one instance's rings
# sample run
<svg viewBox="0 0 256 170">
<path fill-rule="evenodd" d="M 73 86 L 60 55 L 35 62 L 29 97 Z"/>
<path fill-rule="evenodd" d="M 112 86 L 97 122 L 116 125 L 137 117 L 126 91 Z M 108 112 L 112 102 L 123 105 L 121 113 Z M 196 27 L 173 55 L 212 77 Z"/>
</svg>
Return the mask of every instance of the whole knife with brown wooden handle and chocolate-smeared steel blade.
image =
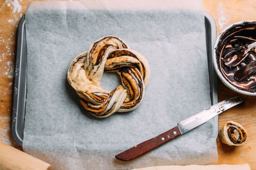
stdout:
<svg viewBox="0 0 256 170">
<path fill-rule="evenodd" d="M 186 118 L 177 124 L 177 126 L 173 127 L 172 129 L 164 132 L 163 134 L 159 134 L 158 136 L 148 139 L 138 145 L 125 150 L 118 155 L 115 155 L 116 159 L 118 160 L 132 160 L 144 153 L 149 152 L 150 150 L 154 150 L 159 146 L 163 145 L 164 143 L 180 136 L 188 131 L 191 131 L 195 127 L 204 124 L 211 118 L 219 115 L 225 110 L 228 110 L 237 104 L 243 103 L 243 97 L 231 97 L 230 99 L 226 99 L 225 101 L 221 101 L 220 103 L 214 104 L 213 106 L 207 108 L 206 110 L 200 111 L 196 115 L 192 117 Z"/>
</svg>

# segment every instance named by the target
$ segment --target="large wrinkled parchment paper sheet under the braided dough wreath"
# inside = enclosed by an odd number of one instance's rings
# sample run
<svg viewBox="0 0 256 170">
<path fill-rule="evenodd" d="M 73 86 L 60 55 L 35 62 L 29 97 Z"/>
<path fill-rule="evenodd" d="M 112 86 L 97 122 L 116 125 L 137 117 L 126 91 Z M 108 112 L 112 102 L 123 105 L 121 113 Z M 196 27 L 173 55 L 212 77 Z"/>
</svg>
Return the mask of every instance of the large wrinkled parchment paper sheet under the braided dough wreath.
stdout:
<svg viewBox="0 0 256 170">
<path fill-rule="evenodd" d="M 114 157 L 211 106 L 200 1 L 33 2 L 26 34 L 25 152 L 53 169 L 216 163 L 218 127 L 212 120 L 131 162 Z M 147 58 L 150 81 L 138 109 L 95 118 L 68 85 L 67 69 L 76 55 L 109 35 Z M 101 85 L 112 90 L 119 83 L 116 74 L 104 74 Z"/>
</svg>

